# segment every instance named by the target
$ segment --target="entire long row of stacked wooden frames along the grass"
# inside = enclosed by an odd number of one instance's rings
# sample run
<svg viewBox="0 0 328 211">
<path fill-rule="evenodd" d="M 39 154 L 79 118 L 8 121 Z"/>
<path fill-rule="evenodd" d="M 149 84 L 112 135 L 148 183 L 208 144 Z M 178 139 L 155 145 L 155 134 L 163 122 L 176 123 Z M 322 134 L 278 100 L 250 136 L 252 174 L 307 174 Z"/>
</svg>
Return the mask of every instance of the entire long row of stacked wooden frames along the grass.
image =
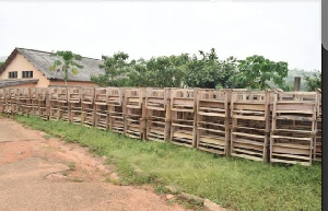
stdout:
<svg viewBox="0 0 328 211">
<path fill-rule="evenodd" d="M 0 112 L 254 161 L 312 165 L 323 155 L 320 92 L 9 87 Z"/>
</svg>

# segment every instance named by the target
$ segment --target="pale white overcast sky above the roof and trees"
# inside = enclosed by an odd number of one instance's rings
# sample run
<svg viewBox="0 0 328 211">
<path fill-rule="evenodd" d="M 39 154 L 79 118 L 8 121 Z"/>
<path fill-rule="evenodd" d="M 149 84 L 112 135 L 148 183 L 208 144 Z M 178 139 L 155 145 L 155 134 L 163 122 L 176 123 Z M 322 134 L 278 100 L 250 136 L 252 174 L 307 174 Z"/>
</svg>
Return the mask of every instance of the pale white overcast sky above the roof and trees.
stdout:
<svg viewBox="0 0 328 211">
<path fill-rule="evenodd" d="M 15 47 L 130 59 L 215 48 L 219 59 L 262 55 L 321 68 L 320 0 L 1 1 L 0 56 Z"/>
</svg>

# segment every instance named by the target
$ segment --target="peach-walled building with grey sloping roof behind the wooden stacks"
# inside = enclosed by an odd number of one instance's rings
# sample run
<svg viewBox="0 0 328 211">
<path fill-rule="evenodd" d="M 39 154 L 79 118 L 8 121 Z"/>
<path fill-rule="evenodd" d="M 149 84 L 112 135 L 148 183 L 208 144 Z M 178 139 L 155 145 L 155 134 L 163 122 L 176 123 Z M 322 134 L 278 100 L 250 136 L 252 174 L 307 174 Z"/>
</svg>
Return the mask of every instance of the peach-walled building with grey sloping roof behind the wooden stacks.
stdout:
<svg viewBox="0 0 328 211">
<path fill-rule="evenodd" d="M 63 71 L 50 70 L 55 60 L 60 57 L 50 52 L 15 48 L 0 67 L 0 87 L 48 87 L 65 85 Z M 91 75 L 104 74 L 105 70 L 99 68 L 102 60 L 82 57 L 77 61 L 83 66 L 78 69 L 79 73 L 69 72 L 68 86 L 96 86 L 91 82 Z M 59 67 L 60 68 L 60 67 Z"/>
</svg>

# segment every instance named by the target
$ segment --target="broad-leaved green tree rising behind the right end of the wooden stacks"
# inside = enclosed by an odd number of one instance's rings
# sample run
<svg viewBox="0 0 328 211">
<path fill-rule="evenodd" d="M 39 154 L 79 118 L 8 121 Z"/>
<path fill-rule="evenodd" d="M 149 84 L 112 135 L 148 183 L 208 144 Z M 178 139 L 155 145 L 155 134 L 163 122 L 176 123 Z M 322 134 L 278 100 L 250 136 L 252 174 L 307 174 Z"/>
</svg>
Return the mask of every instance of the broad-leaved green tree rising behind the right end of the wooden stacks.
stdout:
<svg viewBox="0 0 328 211">
<path fill-rule="evenodd" d="M 254 55 L 238 61 L 238 72 L 233 75 L 235 87 L 270 89 L 269 81 L 284 89 L 284 78 L 288 75 L 288 62 L 274 62 L 262 56 Z"/>
</svg>

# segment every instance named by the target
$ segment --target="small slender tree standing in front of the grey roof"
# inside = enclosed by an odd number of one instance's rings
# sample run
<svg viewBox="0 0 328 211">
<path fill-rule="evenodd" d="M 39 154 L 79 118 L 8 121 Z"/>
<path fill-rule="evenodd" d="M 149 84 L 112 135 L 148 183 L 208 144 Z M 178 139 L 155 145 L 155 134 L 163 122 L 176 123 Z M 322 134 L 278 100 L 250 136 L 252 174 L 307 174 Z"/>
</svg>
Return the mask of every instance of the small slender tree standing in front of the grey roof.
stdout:
<svg viewBox="0 0 328 211">
<path fill-rule="evenodd" d="M 69 70 L 71 70 L 73 74 L 78 74 L 78 68 L 83 68 L 83 66 L 80 66 L 74 61 L 81 60 L 82 57 L 80 55 L 73 54 L 72 51 L 57 51 L 55 54 L 51 52 L 51 56 L 58 56 L 63 60 L 63 63 L 59 59 L 55 60 L 52 66 L 50 67 L 50 70 L 55 70 L 57 67 L 61 66 L 61 69 L 58 69 L 57 71 L 63 71 L 63 80 L 66 85 L 69 78 Z"/>
</svg>

